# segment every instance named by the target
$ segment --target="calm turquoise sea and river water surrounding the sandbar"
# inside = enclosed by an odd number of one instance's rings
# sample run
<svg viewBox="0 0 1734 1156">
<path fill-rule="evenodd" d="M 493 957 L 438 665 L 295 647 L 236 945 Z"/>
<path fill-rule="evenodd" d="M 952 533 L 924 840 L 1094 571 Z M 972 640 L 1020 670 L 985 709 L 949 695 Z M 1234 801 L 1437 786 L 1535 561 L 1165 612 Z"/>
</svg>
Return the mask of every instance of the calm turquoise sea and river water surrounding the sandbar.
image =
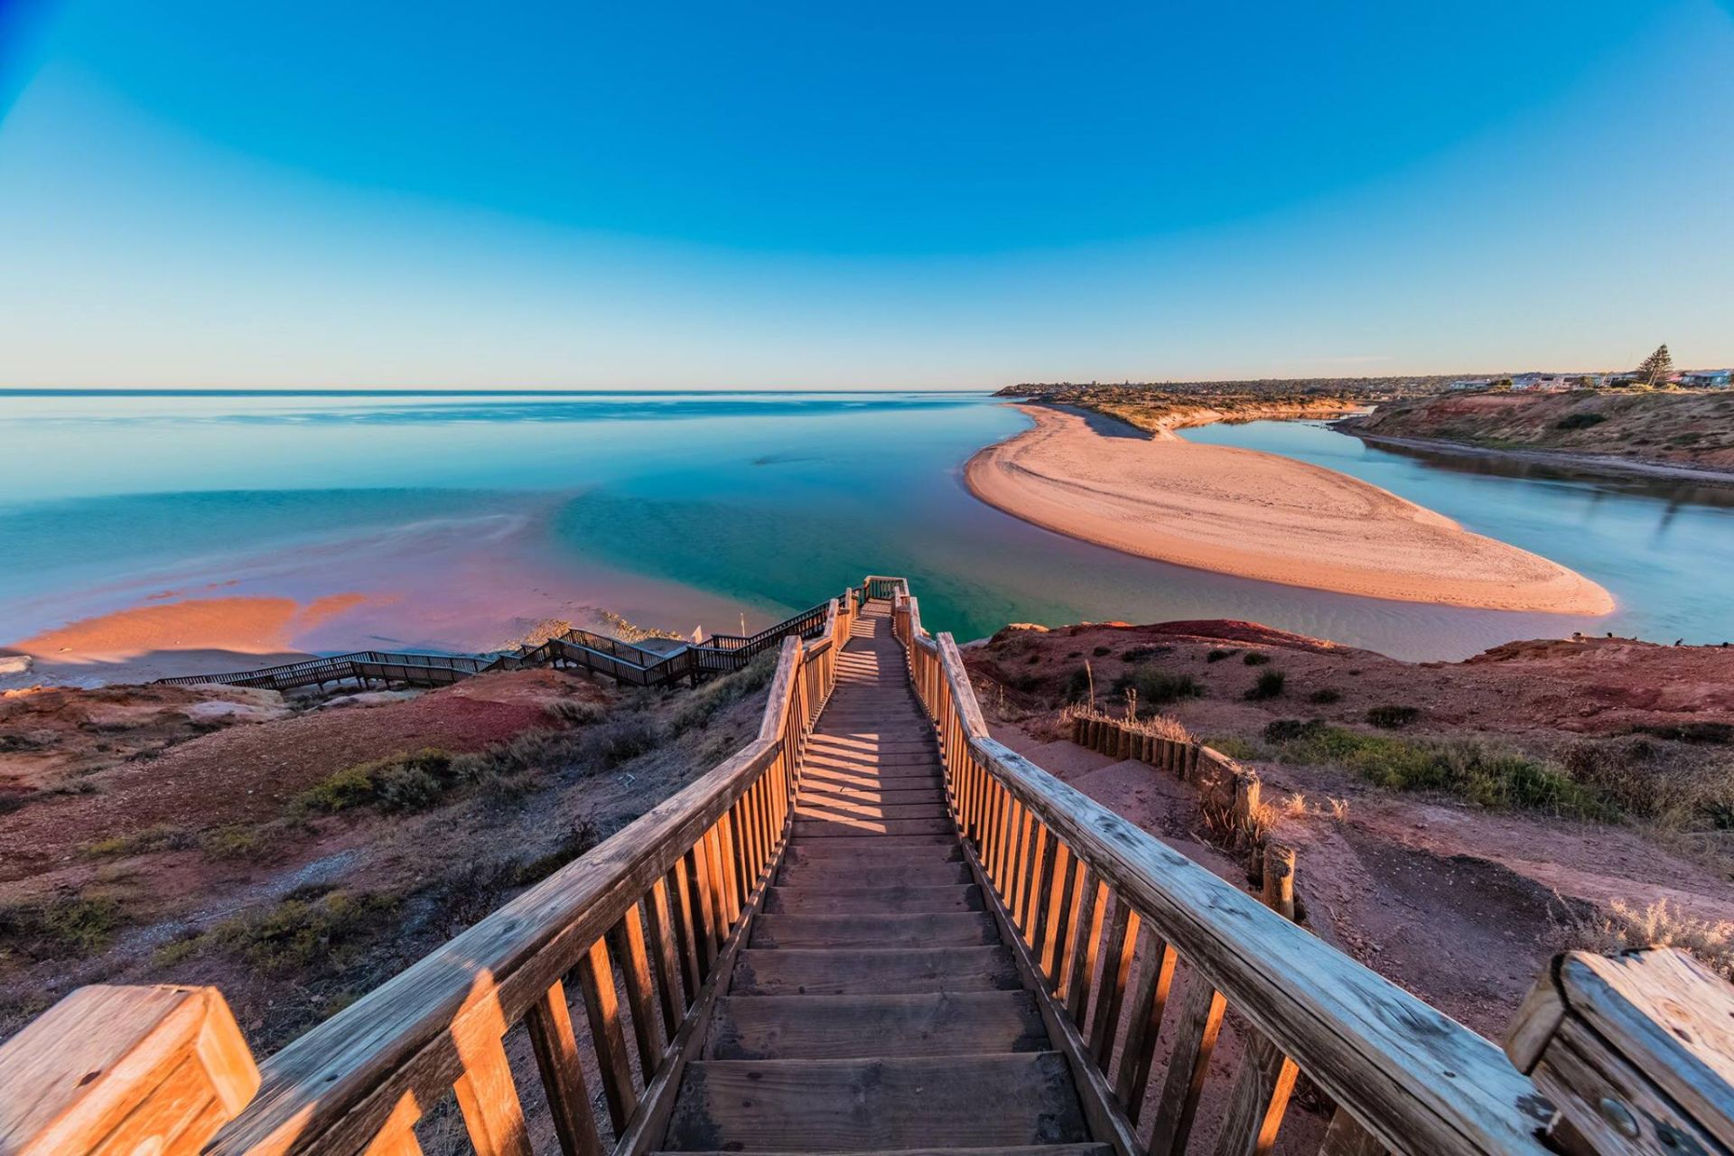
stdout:
<svg viewBox="0 0 1734 1156">
<path fill-rule="evenodd" d="M 475 544 L 534 558 L 522 582 L 610 575 L 617 591 L 626 575 L 645 591 L 636 614 L 683 629 L 701 591 L 707 620 L 730 629 L 714 622 L 718 598 L 766 622 L 881 572 L 914 579 L 929 626 L 961 640 L 1014 620 L 1205 617 L 1403 657 L 1578 627 L 1734 634 L 1715 598 L 1731 572 L 1725 506 L 1467 475 L 1300 423 L 1188 432 L 1366 477 L 1583 570 L 1621 610 L 1391 603 L 1129 558 L 990 510 L 961 466 L 1025 426 L 980 393 L 0 395 L 0 641 L 57 626 L 90 591 L 113 591 L 118 608 L 151 582 L 218 582 L 258 556 L 317 558 L 297 594 L 338 593 L 371 542 L 484 515 L 532 515 L 524 541 Z M 437 643 L 439 629 L 418 638 Z"/>
</svg>

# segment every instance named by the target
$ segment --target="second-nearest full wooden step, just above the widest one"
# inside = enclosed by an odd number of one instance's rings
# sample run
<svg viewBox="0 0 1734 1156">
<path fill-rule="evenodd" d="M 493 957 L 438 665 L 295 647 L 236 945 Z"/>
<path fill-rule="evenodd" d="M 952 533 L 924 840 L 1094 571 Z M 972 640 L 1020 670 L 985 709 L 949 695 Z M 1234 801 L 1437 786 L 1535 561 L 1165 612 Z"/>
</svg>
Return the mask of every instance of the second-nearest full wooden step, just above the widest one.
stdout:
<svg viewBox="0 0 1734 1156">
<path fill-rule="evenodd" d="M 1046 1052 L 1030 991 L 756 995 L 718 1000 L 709 1059 Z"/>
</svg>

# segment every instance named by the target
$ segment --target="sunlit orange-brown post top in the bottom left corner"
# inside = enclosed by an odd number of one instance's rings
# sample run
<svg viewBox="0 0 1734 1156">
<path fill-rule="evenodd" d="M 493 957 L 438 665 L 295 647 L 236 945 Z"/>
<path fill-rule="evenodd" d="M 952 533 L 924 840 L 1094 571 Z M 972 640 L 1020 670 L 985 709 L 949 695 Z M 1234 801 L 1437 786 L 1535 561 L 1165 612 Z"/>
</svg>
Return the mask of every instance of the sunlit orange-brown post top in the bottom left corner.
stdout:
<svg viewBox="0 0 1734 1156">
<path fill-rule="evenodd" d="M 0 1047 L 0 1153 L 191 1156 L 257 1090 L 217 988 L 78 988 Z"/>
</svg>

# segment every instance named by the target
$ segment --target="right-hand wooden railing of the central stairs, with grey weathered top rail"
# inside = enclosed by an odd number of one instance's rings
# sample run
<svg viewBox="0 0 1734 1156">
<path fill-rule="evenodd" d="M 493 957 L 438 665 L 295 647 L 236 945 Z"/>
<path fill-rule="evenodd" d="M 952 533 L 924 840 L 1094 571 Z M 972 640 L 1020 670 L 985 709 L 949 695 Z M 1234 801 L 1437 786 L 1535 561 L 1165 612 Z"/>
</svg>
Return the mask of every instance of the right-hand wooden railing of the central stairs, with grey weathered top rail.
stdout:
<svg viewBox="0 0 1734 1156">
<path fill-rule="evenodd" d="M 995 742 L 955 643 L 922 629 L 907 586 L 893 624 L 966 853 L 1049 1003 L 1098 1139 L 1120 1156 L 1186 1151 L 1233 1009 L 1248 1031 L 1219 1154 L 1269 1151 L 1299 1073 L 1339 1106 L 1320 1149 L 1332 1156 L 1548 1151 L 1554 1106 L 1493 1043 Z"/>
</svg>

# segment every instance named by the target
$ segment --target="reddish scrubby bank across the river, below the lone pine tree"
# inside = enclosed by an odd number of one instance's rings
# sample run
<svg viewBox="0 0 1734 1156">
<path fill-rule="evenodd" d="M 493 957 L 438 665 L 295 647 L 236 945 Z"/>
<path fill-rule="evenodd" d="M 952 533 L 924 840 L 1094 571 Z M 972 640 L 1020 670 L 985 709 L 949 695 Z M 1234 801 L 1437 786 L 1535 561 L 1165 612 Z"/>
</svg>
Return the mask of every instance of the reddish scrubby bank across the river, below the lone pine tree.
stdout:
<svg viewBox="0 0 1734 1156">
<path fill-rule="evenodd" d="M 1734 470 L 1734 390 L 1441 393 L 1342 426 L 1368 437 Z"/>
</svg>

